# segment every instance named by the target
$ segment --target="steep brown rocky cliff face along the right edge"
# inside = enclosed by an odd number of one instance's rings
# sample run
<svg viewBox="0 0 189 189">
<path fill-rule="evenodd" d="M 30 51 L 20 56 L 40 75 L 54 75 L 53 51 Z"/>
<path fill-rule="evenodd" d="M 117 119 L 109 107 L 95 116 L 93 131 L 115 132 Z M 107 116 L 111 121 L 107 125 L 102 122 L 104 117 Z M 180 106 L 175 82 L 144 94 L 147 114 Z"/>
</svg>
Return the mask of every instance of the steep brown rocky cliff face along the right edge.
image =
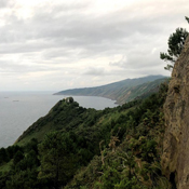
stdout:
<svg viewBox="0 0 189 189">
<path fill-rule="evenodd" d="M 189 37 L 172 72 L 164 112 L 163 172 L 173 188 L 189 189 Z"/>
</svg>

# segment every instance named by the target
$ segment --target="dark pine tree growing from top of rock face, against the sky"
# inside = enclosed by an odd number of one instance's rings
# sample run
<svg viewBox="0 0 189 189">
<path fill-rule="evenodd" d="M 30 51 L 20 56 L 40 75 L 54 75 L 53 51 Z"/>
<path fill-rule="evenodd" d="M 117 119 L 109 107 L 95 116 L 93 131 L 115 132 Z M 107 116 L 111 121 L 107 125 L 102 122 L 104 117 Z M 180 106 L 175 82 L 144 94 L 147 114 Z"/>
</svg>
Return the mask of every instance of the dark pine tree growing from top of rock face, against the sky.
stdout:
<svg viewBox="0 0 189 189">
<path fill-rule="evenodd" d="M 189 18 L 186 17 L 189 23 Z M 177 28 L 168 38 L 168 50 L 167 53 L 160 53 L 160 58 L 165 62 L 171 62 L 164 69 L 172 70 L 174 63 L 179 57 L 181 50 L 185 45 L 185 40 L 187 39 L 188 31 L 184 28 Z"/>
</svg>

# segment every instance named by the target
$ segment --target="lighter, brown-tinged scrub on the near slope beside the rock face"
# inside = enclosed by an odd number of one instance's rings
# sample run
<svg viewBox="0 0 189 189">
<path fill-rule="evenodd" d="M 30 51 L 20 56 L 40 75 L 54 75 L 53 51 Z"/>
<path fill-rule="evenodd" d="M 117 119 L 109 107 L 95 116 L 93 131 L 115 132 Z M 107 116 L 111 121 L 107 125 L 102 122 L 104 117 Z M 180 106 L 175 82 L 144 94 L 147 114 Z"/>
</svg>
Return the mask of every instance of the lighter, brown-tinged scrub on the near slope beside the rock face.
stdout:
<svg viewBox="0 0 189 189">
<path fill-rule="evenodd" d="M 109 144 L 105 144 L 105 140 L 99 143 L 100 156 L 95 157 L 87 167 L 76 175 L 66 189 L 77 189 L 79 186 L 95 189 L 151 189 L 159 185 L 170 186 L 168 180 L 161 175 L 160 165 L 164 133 L 162 106 L 166 91 L 167 85 L 164 83 L 158 94 L 114 120 Z M 127 127 L 123 130 L 125 134 L 122 139 L 119 139 L 120 145 L 117 136 L 122 129 L 114 130 L 118 122 Z"/>
</svg>

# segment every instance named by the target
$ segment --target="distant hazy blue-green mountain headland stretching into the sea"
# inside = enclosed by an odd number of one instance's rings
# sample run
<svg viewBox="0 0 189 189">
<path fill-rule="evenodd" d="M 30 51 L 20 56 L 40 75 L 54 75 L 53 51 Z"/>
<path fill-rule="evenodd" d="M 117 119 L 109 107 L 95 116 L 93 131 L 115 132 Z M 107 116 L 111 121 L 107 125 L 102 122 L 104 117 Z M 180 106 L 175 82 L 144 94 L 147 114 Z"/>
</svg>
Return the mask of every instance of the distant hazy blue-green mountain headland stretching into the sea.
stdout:
<svg viewBox="0 0 189 189">
<path fill-rule="evenodd" d="M 149 96 L 158 91 L 158 86 L 165 79 L 164 76 L 148 76 L 144 78 L 126 79 L 119 82 L 95 86 L 60 91 L 54 95 L 73 95 L 73 96 L 102 96 L 122 105 L 135 98 Z"/>
</svg>

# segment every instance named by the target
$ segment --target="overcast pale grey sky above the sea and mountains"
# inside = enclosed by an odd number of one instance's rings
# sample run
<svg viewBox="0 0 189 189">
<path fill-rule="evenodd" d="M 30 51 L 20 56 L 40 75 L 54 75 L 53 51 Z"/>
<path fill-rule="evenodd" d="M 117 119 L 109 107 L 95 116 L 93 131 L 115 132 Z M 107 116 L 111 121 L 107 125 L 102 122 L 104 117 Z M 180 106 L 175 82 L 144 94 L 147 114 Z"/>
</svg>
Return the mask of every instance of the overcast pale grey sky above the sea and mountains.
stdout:
<svg viewBox="0 0 189 189">
<path fill-rule="evenodd" d="M 0 91 L 62 91 L 170 76 L 160 52 L 188 0 L 0 0 Z"/>
</svg>

